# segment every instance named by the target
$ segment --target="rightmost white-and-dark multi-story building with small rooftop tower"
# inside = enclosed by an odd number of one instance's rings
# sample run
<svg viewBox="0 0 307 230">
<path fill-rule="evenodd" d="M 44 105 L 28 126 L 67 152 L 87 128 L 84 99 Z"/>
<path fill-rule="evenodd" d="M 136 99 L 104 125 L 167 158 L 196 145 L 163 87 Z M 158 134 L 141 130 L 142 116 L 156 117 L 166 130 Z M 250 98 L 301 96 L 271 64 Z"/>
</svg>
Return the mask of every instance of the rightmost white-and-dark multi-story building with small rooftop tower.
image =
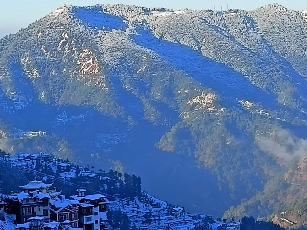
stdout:
<svg viewBox="0 0 307 230">
<path fill-rule="evenodd" d="M 85 189 L 78 189 L 71 198 L 79 201 L 79 227 L 84 230 L 106 229 L 107 204 L 110 202 L 102 194 L 86 195 Z"/>
</svg>

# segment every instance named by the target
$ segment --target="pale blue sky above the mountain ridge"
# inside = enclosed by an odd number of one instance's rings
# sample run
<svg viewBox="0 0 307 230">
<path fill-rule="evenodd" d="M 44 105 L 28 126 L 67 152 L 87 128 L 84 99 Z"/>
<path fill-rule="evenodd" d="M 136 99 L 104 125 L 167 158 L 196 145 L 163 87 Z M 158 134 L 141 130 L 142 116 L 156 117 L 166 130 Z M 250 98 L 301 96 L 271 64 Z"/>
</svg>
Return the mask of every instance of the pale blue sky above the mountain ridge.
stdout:
<svg viewBox="0 0 307 230">
<path fill-rule="evenodd" d="M 9 33 L 16 33 L 46 14 L 52 12 L 59 6 L 71 4 L 77 6 L 94 4 L 130 4 L 146 7 L 165 7 L 171 9 L 212 9 L 223 6 L 227 8 L 239 8 L 252 10 L 269 3 L 278 3 L 293 10 L 307 10 L 307 0 L 4 0 L 0 7 L 0 38 Z"/>
</svg>

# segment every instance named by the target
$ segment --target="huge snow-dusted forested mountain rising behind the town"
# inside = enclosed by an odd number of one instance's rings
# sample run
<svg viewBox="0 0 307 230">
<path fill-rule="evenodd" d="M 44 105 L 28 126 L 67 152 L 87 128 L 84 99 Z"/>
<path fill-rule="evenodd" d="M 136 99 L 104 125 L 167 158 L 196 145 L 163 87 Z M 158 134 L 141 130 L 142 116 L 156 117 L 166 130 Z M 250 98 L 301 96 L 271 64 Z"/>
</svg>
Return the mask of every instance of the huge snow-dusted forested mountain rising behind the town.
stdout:
<svg viewBox="0 0 307 230">
<path fill-rule="evenodd" d="M 306 155 L 306 41 L 277 4 L 62 6 L 0 40 L 0 147 L 135 173 L 222 215 Z"/>
</svg>

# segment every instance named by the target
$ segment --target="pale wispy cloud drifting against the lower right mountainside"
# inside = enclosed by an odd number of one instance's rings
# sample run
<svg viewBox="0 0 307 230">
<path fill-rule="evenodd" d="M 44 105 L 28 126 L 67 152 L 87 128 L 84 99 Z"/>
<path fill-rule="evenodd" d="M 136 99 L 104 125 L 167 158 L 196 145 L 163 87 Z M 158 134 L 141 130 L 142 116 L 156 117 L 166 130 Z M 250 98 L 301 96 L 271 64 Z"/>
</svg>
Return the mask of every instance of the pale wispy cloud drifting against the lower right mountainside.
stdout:
<svg viewBox="0 0 307 230">
<path fill-rule="evenodd" d="M 257 144 L 261 150 L 287 161 L 307 156 L 307 140 L 285 129 L 275 131 L 270 138 L 258 137 Z"/>
</svg>

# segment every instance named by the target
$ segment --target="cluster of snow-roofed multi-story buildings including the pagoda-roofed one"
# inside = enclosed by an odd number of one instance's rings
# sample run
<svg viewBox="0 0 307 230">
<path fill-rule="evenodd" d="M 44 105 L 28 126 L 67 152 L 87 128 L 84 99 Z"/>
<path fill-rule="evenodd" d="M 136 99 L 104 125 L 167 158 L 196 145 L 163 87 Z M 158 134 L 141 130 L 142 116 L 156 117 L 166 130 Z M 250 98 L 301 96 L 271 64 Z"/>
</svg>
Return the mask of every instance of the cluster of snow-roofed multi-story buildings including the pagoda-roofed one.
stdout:
<svg viewBox="0 0 307 230">
<path fill-rule="evenodd" d="M 107 229 L 107 204 L 110 202 L 104 195 L 87 195 L 86 189 L 78 189 L 76 194 L 66 199 L 60 195 L 61 191 L 50 189 L 52 185 L 34 179 L 27 185 L 19 186 L 21 192 L 2 195 L 2 221 L 5 221 L 6 205 L 14 209 L 16 230 Z M 11 203 L 17 205 L 11 207 Z"/>
</svg>

